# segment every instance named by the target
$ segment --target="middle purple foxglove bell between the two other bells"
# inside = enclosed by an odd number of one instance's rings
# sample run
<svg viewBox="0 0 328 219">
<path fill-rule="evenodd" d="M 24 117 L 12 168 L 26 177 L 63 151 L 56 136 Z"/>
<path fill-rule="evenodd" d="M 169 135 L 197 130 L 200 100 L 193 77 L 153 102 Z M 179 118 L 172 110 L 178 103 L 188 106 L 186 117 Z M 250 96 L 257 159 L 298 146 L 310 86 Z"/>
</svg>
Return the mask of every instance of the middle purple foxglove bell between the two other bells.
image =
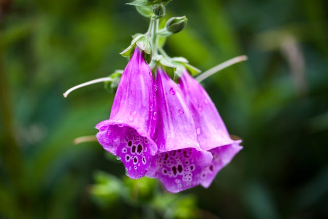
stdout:
<svg viewBox="0 0 328 219">
<path fill-rule="evenodd" d="M 158 105 L 154 141 L 158 151 L 147 176 L 156 177 L 170 192 L 199 185 L 212 154 L 200 148 L 192 114 L 181 89 L 163 69 L 155 75 Z"/>
</svg>

